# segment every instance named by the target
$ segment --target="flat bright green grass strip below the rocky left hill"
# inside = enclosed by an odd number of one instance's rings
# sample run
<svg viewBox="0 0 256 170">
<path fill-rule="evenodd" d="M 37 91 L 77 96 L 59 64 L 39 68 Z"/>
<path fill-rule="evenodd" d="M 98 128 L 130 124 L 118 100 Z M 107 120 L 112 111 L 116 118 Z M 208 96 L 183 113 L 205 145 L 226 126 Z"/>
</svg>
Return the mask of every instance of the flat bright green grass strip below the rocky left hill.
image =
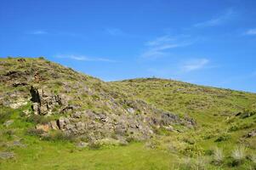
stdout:
<svg viewBox="0 0 256 170">
<path fill-rule="evenodd" d="M 143 144 L 100 150 L 77 150 L 72 144 L 30 139 L 26 149 L 15 149 L 14 160 L 3 161 L 1 169 L 168 169 L 176 157 Z"/>
</svg>

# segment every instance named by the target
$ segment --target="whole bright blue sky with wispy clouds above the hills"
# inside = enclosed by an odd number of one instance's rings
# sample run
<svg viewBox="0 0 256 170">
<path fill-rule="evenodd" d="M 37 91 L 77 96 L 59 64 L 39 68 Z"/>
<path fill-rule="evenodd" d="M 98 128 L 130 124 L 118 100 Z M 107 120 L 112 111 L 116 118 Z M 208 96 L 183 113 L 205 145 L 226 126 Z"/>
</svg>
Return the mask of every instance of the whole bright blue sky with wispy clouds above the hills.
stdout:
<svg viewBox="0 0 256 170">
<path fill-rule="evenodd" d="M 1 0 L 0 56 L 256 92 L 256 1 Z"/>
</svg>

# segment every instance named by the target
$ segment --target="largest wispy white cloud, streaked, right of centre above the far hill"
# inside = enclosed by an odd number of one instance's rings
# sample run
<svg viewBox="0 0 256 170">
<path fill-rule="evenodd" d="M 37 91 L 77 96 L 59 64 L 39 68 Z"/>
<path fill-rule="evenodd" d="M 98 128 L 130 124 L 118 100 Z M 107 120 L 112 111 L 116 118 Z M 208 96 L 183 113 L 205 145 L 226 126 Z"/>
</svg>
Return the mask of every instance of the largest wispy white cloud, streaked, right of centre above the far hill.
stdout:
<svg viewBox="0 0 256 170">
<path fill-rule="evenodd" d="M 180 48 L 191 45 L 193 41 L 187 40 L 185 35 L 179 37 L 170 37 L 169 35 L 156 37 L 156 39 L 145 42 L 146 49 L 144 53 L 140 54 L 142 58 L 156 59 L 167 56 L 169 49 Z"/>
</svg>

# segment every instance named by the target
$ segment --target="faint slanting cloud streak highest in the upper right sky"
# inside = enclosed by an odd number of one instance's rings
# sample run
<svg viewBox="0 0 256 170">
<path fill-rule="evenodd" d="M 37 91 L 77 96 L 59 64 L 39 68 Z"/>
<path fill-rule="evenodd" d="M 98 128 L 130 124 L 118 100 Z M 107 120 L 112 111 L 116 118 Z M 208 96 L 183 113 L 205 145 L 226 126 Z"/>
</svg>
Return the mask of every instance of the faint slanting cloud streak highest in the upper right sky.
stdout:
<svg viewBox="0 0 256 170">
<path fill-rule="evenodd" d="M 196 23 L 195 27 L 209 27 L 209 26 L 219 26 L 224 24 L 226 21 L 231 20 L 236 15 L 235 11 L 231 8 L 227 9 L 224 14 L 220 14 L 219 16 L 206 20 L 203 22 Z"/>
</svg>

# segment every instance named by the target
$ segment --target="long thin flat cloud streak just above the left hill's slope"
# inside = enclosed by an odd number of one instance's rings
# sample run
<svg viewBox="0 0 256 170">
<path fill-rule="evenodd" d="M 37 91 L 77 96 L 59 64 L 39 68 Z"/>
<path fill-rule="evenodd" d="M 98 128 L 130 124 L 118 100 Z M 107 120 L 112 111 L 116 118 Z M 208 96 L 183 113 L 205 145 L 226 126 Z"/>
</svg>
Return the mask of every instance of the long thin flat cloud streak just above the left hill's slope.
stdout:
<svg viewBox="0 0 256 170">
<path fill-rule="evenodd" d="M 56 55 L 56 58 L 60 59 L 74 59 L 77 61 L 94 61 L 94 62 L 117 62 L 114 59 L 106 59 L 106 58 L 99 58 L 99 57 L 88 57 L 85 55 L 74 55 L 74 54 L 69 54 L 69 55 Z"/>
</svg>

